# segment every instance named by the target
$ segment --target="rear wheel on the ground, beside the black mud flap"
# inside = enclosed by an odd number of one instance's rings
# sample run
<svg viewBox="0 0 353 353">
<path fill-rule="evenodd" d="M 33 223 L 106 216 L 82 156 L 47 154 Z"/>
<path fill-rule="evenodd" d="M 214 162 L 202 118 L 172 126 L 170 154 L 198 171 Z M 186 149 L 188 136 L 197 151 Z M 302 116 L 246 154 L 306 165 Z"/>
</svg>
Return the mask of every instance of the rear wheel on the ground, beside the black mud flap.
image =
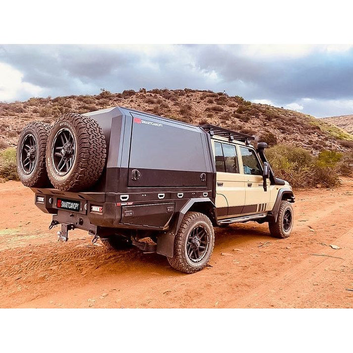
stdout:
<svg viewBox="0 0 353 353">
<path fill-rule="evenodd" d="M 174 269 L 194 273 L 207 265 L 213 248 L 214 230 L 210 219 L 200 212 L 187 212 L 174 239 L 173 257 L 167 259 Z"/>
</svg>

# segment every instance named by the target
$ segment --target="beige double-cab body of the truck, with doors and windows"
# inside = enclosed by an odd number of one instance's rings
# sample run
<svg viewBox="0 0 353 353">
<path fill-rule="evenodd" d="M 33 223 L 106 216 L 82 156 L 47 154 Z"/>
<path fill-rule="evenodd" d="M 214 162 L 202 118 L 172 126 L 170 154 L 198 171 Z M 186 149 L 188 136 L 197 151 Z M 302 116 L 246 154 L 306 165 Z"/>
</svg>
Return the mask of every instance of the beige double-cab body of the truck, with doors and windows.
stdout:
<svg viewBox="0 0 353 353">
<path fill-rule="evenodd" d="M 269 212 L 273 209 L 279 189 L 292 191 L 287 182 L 283 186 L 270 185 L 269 179 L 267 191 L 264 191 L 263 164 L 253 146 L 215 136 L 212 138 L 212 149 L 216 163 L 216 208 L 219 219 Z"/>
</svg>

